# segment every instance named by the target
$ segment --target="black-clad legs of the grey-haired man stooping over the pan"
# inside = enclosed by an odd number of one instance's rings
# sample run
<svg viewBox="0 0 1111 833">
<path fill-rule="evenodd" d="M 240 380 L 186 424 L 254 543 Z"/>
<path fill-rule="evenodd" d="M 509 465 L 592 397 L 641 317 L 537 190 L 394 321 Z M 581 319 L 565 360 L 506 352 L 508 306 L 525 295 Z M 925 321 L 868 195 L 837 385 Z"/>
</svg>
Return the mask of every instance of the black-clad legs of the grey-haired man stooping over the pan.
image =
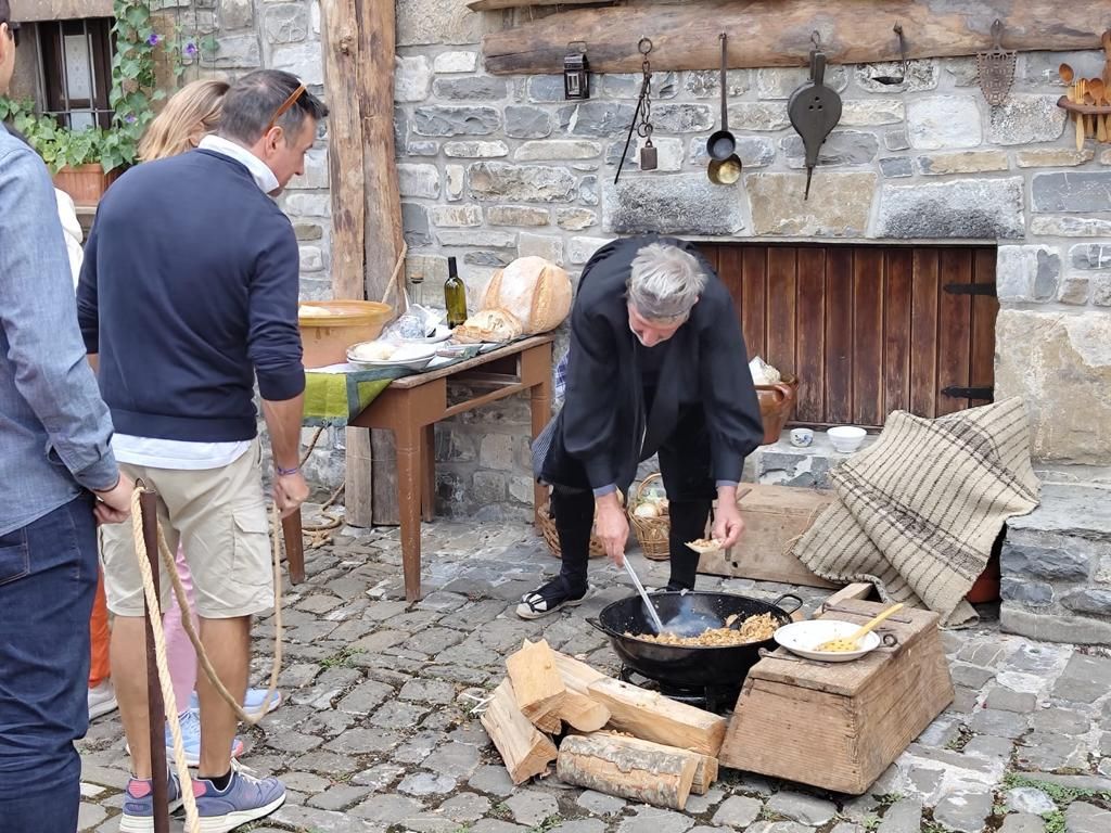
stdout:
<svg viewBox="0 0 1111 833">
<path fill-rule="evenodd" d="M 710 439 L 701 407 L 680 411 L 675 430 L 660 446 L 658 454 L 671 521 L 668 535 L 671 579 L 668 586 L 672 590 L 693 590 L 699 554 L 685 546 L 685 542 L 702 538 L 714 496 L 710 475 Z M 589 490 L 554 485 L 551 506 L 563 556 L 560 576 L 568 592 L 579 595 L 587 589 L 594 495 Z"/>
</svg>

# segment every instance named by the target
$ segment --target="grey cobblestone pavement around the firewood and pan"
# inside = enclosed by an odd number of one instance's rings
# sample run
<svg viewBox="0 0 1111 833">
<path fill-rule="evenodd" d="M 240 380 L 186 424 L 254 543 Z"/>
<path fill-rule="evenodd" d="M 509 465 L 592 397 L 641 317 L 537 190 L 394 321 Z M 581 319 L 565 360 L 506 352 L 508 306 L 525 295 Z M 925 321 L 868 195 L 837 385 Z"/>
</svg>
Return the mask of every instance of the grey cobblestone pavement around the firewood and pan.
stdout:
<svg viewBox="0 0 1111 833">
<path fill-rule="evenodd" d="M 683 813 L 558 783 L 514 787 L 477 717 L 476 699 L 524 638 L 617 669 L 583 621 L 630 591 L 592 563 L 598 592 L 537 622 L 513 613 L 558 562 L 523 524 L 424 525 L 424 599 L 403 601 L 397 530 L 344 529 L 287 584 L 286 700 L 248 730 L 243 762 L 289 790 L 258 833 L 1003 833 L 1111 832 L 1111 653 L 1040 644 L 992 622 L 945 633 L 957 700 L 872 787 L 854 797 L 723 770 Z M 637 555 L 648 584 L 665 565 Z M 773 599 L 785 588 L 699 578 Z M 825 595 L 802 589 L 812 610 Z M 273 620 L 256 628 L 253 681 L 266 679 Z M 127 757 L 118 714 L 80 743 L 81 829 L 117 831 Z M 1052 774 L 1048 774 L 1052 773 Z M 176 821 L 173 830 L 181 830 Z"/>
</svg>

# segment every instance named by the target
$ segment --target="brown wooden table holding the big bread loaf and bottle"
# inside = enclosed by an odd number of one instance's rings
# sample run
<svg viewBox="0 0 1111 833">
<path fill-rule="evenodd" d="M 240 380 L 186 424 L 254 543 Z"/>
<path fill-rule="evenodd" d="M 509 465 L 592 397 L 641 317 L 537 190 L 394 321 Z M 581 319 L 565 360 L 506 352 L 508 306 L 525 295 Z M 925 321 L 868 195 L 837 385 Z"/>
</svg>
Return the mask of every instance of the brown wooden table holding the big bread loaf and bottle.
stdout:
<svg viewBox="0 0 1111 833">
<path fill-rule="evenodd" d="M 401 561 L 406 600 L 420 599 L 420 522 L 431 521 L 436 506 L 436 423 L 522 391 L 529 392 L 532 439 L 551 418 L 552 337 L 537 335 L 473 359 L 396 380 L 351 420 L 351 428 L 392 431 L 398 449 L 398 502 L 401 516 Z M 448 402 L 448 381 L 466 382 L 473 395 Z M 547 492 L 533 486 L 533 513 Z M 283 522 L 290 580 L 304 581 L 301 516 Z"/>
</svg>

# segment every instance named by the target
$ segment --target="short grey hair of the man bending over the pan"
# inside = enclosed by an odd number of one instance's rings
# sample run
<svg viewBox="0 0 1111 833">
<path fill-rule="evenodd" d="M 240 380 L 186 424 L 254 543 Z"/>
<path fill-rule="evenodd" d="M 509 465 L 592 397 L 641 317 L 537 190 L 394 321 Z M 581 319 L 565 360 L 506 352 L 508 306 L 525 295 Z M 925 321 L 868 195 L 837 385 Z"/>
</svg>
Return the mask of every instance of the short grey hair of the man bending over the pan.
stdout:
<svg viewBox="0 0 1111 833">
<path fill-rule="evenodd" d="M 705 289 L 707 275 L 690 252 L 651 243 L 637 252 L 625 283 L 629 303 L 649 321 L 674 321 L 690 314 Z"/>
</svg>

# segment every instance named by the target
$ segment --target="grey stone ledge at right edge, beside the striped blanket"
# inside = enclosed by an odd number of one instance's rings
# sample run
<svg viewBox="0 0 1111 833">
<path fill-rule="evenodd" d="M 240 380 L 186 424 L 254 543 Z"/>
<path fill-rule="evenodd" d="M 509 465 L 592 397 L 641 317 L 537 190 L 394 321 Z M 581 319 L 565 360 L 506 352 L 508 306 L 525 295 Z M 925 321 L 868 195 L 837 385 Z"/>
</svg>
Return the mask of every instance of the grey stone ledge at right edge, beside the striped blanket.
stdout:
<svg viewBox="0 0 1111 833">
<path fill-rule="evenodd" d="M 1045 483 L 1041 504 L 1007 526 L 1003 630 L 1053 642 L 1111 643 L 1111 489 Z"/>
</svg>

